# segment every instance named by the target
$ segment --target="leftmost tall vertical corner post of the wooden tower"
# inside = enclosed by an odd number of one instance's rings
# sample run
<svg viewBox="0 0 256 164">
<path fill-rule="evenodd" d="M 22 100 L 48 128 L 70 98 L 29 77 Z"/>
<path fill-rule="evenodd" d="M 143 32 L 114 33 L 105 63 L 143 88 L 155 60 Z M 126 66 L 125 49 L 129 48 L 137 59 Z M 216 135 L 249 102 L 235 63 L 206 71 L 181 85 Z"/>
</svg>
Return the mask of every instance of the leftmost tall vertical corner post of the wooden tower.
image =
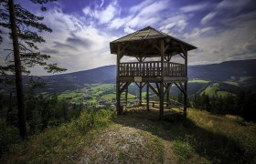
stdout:
<svg viewBox="0 0 256 164">
<path fill-rule="evenodd" d="M 117 75 L 116 75 L 116 110 L 118 115 L 123 114 L 123 108 L 121 108 L 120 104 L 120 81 L 119 81 L 119 75 L 120 75 L 120 59 L 121 59 L 121 54 L 120 54 L 120 45 L 117 46 L 117 59 L 116 59 L 116 65 L 117 65 Z"/>
</svg>

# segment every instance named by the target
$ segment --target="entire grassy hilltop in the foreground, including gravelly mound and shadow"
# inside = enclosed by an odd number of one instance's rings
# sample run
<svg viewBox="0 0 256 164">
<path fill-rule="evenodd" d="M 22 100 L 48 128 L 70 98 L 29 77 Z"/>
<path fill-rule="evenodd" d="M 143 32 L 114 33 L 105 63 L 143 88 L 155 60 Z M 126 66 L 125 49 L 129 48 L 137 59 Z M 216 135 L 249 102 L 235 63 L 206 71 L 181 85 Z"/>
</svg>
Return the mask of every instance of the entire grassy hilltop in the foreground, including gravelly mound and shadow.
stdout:
<svg viewBox="0 0 256 164">
<path fill-rule="evenodd" d="M 158 111 L 83 111 L 80 118 L 12 147 L 0 162 L 255 163 L 256 125 L 188 109 L 187 119 Z"/>
</svg>

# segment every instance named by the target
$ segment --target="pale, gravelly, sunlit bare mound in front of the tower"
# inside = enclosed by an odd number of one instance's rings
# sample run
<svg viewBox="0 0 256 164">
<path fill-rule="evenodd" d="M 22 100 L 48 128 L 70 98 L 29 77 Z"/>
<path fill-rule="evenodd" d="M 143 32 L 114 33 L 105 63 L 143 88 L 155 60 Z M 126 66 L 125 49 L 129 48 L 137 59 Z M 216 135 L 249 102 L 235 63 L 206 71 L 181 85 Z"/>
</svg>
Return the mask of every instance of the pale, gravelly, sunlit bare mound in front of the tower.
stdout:
<svg viewBox="0 0 256 164">
<path fill-rule="evenodd" d="M 84 148 L 79 163 L 176 163 L 168 141 L 115 124 Z"/>
</svg>

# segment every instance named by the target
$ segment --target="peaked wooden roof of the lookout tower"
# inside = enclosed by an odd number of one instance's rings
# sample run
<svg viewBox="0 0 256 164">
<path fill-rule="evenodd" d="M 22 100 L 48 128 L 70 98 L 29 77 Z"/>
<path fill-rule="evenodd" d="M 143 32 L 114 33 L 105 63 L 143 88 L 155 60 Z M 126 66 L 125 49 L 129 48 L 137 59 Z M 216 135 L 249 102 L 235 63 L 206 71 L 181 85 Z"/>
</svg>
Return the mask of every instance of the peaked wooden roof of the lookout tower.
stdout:
<svg viewBox="0 0 256 164">
<path fill-rule="evenodd" d="M 160 56 L 159 48 L 161 39 L 164 39 L 165 41 L 165 55 L 174 56 L 181 53 L 181 46 L 187 48 L 187 51 L 197 48 L 174 36 L 169 36 L 163 32 L 155 30 L 155 28 L 152 28 L 151 26 L 147 26 L 130 35 L 112 41 L 110 43 L 111 53 L 117 54 L 117 47 L 120 45 L 123 49 L 124 56 Z"/>
</svg>

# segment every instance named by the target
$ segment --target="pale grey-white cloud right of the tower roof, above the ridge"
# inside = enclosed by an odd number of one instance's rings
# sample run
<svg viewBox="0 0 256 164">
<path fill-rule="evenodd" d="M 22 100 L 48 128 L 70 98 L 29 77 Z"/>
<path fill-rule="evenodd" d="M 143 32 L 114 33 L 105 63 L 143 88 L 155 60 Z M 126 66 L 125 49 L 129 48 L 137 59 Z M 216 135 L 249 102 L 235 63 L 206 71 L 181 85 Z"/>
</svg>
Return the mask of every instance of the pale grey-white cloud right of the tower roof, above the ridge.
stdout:
<svg viewBox="0 0 256 164">
<path fill-rule="evenodd" d="M 255 58 L 256 34 L 251 36 L 251 31 L 256 23 L 249 21 L 242 24 L 246 26 L 220 32 L 212 27 L 194 29 L 187 40 L 198 49 L 188 52 L 189 65 Z M 214 35 L 207 35 L 208 33 Z"/>
</svg>

